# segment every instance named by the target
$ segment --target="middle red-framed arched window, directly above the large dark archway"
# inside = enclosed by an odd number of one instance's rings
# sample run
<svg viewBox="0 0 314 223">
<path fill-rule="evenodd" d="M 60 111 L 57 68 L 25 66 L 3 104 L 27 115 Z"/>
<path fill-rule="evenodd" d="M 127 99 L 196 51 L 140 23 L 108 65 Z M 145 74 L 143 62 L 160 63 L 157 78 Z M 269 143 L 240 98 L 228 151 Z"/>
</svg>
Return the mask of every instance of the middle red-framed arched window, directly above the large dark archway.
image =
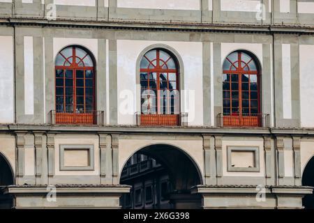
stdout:
<svg viewBox="0 0 314 223">
<path fill-rule="evenodd" d="M 140 62 L 142 125 L 179 124 L 179 73 L 174 56 L 153 49 Z"/>
</svg>

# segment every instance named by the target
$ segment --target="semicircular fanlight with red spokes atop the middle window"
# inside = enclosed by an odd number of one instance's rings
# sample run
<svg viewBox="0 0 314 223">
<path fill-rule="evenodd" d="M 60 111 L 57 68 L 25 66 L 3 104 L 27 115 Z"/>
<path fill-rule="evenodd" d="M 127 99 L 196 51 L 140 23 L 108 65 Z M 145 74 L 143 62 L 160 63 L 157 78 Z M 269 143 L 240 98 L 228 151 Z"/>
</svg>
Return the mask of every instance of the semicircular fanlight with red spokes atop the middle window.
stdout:
<svg viewBox="0 0 314 223">
<path fill-rule="evenodd" d="M 152 49 L 142 57 L 140 68 L 150 70 L 175 70 L 177 69 L 177 65 L 174 61 L 174 57 L 163 49 Z"/>
</svg>

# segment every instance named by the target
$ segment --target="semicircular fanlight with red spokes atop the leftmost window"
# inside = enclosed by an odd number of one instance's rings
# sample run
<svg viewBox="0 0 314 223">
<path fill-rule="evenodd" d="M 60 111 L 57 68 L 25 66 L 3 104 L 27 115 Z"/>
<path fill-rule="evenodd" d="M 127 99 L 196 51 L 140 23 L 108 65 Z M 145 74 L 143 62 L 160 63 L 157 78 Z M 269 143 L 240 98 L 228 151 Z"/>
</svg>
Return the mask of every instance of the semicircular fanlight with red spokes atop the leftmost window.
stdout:
<svg viewBox="0 0 314 223">
<path fill-rule="evenodd" d="M 59 52 L 56 58 L 56 66 L 66 67 L 93 67 L 94 63 L 87 52 L 82 47 L 70 46 Z"/>
</svg>

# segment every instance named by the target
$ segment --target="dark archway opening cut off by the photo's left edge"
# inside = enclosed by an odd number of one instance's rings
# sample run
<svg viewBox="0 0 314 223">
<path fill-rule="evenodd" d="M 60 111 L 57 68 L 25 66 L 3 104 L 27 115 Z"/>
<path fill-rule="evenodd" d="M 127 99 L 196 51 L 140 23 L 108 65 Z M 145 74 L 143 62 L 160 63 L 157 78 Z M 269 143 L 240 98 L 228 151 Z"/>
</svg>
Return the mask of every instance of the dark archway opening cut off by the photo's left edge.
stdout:
<svg viewBox="0 0 314 223">
<path fill-rule="evenodd" d="M 10 194 L 3 194 L 3 189 L 14 184 L 13 171 L 10 164 L 0 153 L 0 209 L 13 208 L 13 197 Z"/>
</svg>

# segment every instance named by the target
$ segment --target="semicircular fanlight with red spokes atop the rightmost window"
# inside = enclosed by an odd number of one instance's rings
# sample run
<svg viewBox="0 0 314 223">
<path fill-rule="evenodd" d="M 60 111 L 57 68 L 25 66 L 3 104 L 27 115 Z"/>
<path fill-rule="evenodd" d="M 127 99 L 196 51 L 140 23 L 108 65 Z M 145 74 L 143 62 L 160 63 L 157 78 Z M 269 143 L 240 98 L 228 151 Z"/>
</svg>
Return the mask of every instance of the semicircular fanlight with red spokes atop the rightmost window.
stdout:
<svg viewBox="0 0 314 223">
<path fill-rule="evenodd" d="M 252 56 L 242 51 L 229 54 L 224 63 L 223 71 L 257 71 L 257 64 Z"/>
</svg>

